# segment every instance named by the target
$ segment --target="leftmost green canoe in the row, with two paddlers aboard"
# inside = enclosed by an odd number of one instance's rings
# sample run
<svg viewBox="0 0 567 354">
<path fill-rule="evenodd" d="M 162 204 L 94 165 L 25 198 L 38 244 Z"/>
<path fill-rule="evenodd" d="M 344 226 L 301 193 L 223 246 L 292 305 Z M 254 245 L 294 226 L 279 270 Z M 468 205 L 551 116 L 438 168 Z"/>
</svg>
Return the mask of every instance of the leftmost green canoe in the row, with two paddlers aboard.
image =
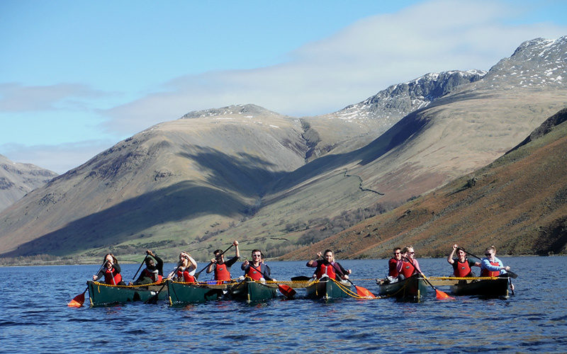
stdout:
<svg viewBox="0 0 567 354">
<path fill-rule="evenodd" d="M 122 304 L 125 302 L 146 301 L 157 294 L 162 285 L 150 286 L 128 286 L 128 285 L 107 285 L 102 282 L 89 280 L 86 282 L 89 287 L 89 301 L 91 306 L 104 306 L 111 304 Z M 162 290 L 157 297 L 160 300 L 167 299 L 167 291 Z"/>
</svg>

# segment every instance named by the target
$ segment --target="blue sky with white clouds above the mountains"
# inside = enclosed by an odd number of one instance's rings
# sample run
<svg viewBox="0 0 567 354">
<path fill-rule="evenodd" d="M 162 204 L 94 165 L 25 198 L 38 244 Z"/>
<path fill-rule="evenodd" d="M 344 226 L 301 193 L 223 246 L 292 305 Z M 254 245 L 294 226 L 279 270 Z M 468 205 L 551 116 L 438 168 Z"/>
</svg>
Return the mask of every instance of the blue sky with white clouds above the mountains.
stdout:
<svg viewBox="0 0 567 354">
<path fill-rule="evenodd" d="M 0 154 L 57 173 L 192 110 L 332 113 L 567 35 L 567 1 L 0 1 Z"/>
</svg>

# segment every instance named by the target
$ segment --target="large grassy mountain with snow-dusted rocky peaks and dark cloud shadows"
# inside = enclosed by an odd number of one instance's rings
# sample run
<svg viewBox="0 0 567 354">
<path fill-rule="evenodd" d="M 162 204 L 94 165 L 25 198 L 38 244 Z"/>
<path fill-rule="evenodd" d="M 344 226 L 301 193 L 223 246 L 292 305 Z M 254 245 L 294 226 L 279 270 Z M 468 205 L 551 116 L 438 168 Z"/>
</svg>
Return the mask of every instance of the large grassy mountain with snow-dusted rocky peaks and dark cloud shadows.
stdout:
<svg viewBox="0 0 567 354">
<path fill-rule="evenodd" d="M 520 48 L 482 77 L 426 75 L 388 93 L 420 104 L 388 106 L 378 93 L 376 118 L 235 105 L 155 125 L 2 212 L 0 256 L 74 262 L 149 248 L 208 259 L 232 239 L 279 256 L 337 234 L 489 164 L 565 107 L 565 38 Z M 517 86 L 510 70 L 520 66 L 541 80 Z M 379 133 L 398 106 L 415 110 Z"/>
</svg>

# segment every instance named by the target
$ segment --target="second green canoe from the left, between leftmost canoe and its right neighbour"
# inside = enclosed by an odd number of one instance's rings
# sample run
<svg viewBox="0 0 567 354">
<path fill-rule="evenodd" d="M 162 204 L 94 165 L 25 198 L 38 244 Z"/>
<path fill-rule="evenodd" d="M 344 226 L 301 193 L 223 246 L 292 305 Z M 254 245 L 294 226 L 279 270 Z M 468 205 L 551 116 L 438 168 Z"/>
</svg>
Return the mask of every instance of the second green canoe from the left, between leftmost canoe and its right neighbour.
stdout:
<svg viewBox="0 0 567 354">
<path fill-rule="evenodd" d="M 223 296 L 227 285 L 210 285 L 206 283 L 174 282 L 167 280 L 169 304 L 196 304 L 216 300 Z"/>
</svg>

